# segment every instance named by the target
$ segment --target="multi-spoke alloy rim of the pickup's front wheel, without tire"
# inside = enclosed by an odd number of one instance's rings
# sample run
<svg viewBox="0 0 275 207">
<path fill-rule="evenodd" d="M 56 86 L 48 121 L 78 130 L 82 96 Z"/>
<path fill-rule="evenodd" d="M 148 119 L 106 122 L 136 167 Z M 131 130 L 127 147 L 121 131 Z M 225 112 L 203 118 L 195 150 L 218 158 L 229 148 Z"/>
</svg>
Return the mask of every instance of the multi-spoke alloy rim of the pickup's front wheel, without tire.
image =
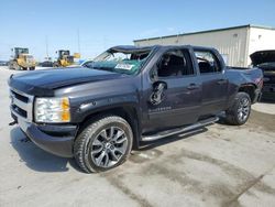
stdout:
<svg viewBox="0 0 275 207">
<path fill-rule="evenodd" d="M 103 129 L 91 143 L 91 159 L 97 166 L 110 167 L 125 154 L 128 139 L 125 132 L 118 127 Z"/>
</svg>

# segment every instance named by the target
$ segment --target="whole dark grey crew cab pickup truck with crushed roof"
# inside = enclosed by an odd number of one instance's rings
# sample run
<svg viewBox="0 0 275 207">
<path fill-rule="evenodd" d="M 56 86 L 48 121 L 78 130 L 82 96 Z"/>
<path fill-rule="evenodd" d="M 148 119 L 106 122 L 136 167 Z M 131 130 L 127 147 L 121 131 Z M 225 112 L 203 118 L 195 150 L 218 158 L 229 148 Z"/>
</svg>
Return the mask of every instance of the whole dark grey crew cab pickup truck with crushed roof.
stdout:
<svg viewBox="0 0 275 207">
<path fill-rule="evenodd" d="M 123 163 L 133 149 L 213 123 L 246 122 L 261 96 L 258 68 L 227 67 L 215 48 L 116 46 L 86 67 L 9 79 L 14 123 L 40 148 L 75 157 L 87 173 Z"/>
</svg>

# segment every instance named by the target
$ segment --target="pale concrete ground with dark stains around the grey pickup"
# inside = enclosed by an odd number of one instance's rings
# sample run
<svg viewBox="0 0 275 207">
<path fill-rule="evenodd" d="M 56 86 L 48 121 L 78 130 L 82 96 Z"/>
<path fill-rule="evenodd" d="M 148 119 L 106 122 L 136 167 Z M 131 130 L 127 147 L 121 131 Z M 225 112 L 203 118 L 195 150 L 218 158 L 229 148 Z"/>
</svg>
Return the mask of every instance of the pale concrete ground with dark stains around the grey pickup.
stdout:
<svg viewBox="0 0 275 207">
<path fill-rule="evenodd" d="M 254 106 L 243 127 L 168 138 L 87 175 L 8 126 L 12 73 L 0 68 L 0 206 L 275 206 L 275 105 Z"/>
</svg>

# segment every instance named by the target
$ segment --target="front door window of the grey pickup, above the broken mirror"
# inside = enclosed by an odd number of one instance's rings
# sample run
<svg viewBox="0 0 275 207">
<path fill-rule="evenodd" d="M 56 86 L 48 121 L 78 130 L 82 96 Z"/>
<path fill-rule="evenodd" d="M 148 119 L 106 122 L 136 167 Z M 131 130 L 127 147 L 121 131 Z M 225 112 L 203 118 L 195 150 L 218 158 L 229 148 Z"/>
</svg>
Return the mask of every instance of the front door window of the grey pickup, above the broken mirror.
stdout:
<svg viewBox="0 0 275 207">
<path fill-rule="evenodd" d="M 189 52 L 186 50 L 172 50 L 166 52 L 158 62 L 157 75 L 160 77 L 194 75 Z"/>
</svg>

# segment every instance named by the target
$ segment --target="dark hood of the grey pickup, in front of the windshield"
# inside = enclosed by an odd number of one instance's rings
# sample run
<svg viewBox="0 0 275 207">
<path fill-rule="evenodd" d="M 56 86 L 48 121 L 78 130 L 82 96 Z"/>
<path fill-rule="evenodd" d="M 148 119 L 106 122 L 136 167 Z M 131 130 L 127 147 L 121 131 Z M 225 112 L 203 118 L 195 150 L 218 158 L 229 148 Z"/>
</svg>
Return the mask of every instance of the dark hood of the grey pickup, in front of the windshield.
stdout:
<svg viewBox="0 0 275 207">
<path fill-rule="evenodd" d="M 123 77 L 127 75 L 84 67 L 56 68 L 12 75 L 9 85 L 29 95 L 53 96 L 56 88 Z"/>
</svg>

